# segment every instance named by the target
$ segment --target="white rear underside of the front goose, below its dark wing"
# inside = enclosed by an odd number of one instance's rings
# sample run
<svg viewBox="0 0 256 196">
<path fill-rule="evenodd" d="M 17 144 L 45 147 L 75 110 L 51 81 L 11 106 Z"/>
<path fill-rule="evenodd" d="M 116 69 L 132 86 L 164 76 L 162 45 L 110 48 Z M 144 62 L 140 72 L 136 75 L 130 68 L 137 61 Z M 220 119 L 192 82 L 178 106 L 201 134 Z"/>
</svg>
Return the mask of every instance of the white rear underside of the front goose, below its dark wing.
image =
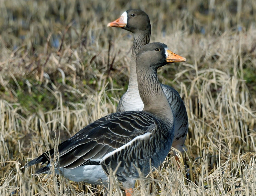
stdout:
<svg viewBox="0 0 256 196">
<path fill-rule="evenodd" d="M 89 184 L 106 184 L 108 182 L 108 176 L 101 165 L 86 165 L 74 169 L 60 168 L 60 170 L 66 178 L 75 182 L 84 181 Z"/>
</svg>

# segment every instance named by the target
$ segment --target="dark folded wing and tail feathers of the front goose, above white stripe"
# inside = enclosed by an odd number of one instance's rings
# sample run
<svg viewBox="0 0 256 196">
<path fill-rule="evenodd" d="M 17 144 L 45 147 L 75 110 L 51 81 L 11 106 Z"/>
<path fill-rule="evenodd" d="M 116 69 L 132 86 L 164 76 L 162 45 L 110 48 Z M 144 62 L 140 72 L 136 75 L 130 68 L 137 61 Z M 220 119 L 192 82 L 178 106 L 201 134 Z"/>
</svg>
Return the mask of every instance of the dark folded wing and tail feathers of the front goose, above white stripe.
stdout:
<svg viewBox="0 0 256 196">
<path fill-rule="evenodd" d="M 106 154 L 154 129 L 153 118 L 148 112 L 118 112 L 92 122 L 69 140 L 59 144 L 59 166 L 76 168 L 82 165 L 100 164 Z M 54 156 L 52 149 L 27 165 L 49 161 L 49 153 L 52 157 Z M 132 152 L 132 157 L 136 156 L 134 153 Z M 47 169 L 42 168 L 39 173 L 42 171 L 45 172 Z"/>
</svg>

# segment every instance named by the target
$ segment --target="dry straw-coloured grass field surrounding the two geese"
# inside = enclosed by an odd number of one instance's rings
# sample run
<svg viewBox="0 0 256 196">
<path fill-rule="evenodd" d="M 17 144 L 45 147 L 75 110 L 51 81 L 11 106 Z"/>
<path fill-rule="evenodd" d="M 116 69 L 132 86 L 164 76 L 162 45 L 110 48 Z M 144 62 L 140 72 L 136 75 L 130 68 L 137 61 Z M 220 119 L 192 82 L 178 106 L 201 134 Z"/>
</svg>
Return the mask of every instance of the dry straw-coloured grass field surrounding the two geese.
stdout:
<svg viewBox="0 0 256 196">
<path fill-rule="evenodd" d="M 103 188 L 20 167 L 56 136 L 115 111 L 132 36 L 106 24 L 129 8 L 137 1 L 0 2 L 0 195 L 123 194 L 114 177 Z M 189 133 L 181 169 L 168 157 L 134 195 L 256 195 L 256 2 L 150 0 L 139 8 L 150 16 L 151 41 L 188 59 L 159 78 L 183 97 Z"/>
</svg>

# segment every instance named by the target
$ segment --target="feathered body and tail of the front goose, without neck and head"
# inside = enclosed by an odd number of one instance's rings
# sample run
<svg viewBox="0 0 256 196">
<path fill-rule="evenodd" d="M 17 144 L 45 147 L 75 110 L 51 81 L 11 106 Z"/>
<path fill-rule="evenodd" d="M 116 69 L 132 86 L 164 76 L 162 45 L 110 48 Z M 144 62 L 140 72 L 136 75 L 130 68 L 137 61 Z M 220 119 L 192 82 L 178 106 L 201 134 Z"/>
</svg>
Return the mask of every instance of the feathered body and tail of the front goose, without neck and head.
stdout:
<svg viewBox="0 0 256 196">
<path fill-rule="evenodd" d="M 150 171 L 150 159 L 154 167 L 164 161 L 172 144 L 169 138 L 173 138 L 173 131 L 149 112 L 110 114 L 59 145 L 56 173 L 61 170 L 65 177 L 77 182 L 107 183 L 108 167 L 114 170 L 121 162 L 116 175 L 120 181 L 128 183 L 127 187 L 132 187 L 131 179 L 138 177 L 137 168 L 146 175 Z M 53 158 L 54 150 L 27 165 L 48 162 L 36 174 L 49 173 L 49 154 Z"/>
</svg>

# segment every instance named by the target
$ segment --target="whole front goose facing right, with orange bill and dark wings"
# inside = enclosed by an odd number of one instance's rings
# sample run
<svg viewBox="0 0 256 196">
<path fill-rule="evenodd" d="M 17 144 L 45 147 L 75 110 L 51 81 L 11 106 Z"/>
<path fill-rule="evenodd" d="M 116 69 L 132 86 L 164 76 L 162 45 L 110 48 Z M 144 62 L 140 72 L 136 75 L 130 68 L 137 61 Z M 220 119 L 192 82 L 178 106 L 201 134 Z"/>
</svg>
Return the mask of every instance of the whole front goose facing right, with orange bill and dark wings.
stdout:
<svg viewBox="0 0 256 196">
<path fill-rule="evenodd" d="M 157 69 L 184 61 L 185 58 L 171 52 L 165 44 L 156 42 L 143 46 L 136 60 L 143 111 L 109 114 L 60 143 L 56 173 L 60 170 L 70 180 L 97 184 L 107 183 L 107 168 L 118 167 L 116 176 L 127 191 L 134 187 L 138 177 L 136 168 L 147 175 L 150 160 L 157 168 L 165 160 L 174 138 L 173 111 L 159 83 Z M 49 173 L 53 157 L 54 149 L 51 149 L 27 166 L 47 162 L 36 174 Z"/>
</svg>

